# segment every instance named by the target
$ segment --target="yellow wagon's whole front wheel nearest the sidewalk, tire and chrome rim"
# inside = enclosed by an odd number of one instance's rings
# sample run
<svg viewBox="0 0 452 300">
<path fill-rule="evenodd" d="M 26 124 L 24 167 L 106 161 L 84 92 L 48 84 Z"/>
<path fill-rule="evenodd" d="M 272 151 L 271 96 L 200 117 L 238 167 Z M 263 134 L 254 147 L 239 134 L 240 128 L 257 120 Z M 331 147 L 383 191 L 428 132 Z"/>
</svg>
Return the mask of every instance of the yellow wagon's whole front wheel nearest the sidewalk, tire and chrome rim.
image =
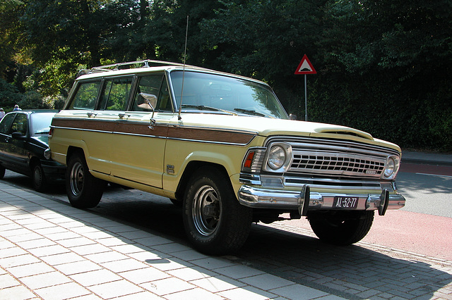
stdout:
<svg viewBox="0 0 452 300">
<path fill-rule="evenodd" d="M 191 177 L 183 209 L 189 242 L 204 254 L 232 254 L 248 238 L 252 210 L 239 204 L 220 170 L 201 168 Z"/>
</svg>

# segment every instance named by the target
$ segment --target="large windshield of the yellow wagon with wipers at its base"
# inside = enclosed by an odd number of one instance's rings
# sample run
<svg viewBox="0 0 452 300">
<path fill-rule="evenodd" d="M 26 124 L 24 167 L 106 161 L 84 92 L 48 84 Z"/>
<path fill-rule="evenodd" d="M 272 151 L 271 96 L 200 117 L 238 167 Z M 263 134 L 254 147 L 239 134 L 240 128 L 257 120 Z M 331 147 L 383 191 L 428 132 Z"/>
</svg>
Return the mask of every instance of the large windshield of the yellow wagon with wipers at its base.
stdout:
<svg viewBox="0 0 452 300">
<path fill-rule="evenodd" d="M 184 91 L 182 92 L 182 76 Z M 256 115 L 287 119 L 287 113 L 266 85 L 242 78 L 185 71 L 173 71 L 171 81 L 182 111 Z"/>
</svg>

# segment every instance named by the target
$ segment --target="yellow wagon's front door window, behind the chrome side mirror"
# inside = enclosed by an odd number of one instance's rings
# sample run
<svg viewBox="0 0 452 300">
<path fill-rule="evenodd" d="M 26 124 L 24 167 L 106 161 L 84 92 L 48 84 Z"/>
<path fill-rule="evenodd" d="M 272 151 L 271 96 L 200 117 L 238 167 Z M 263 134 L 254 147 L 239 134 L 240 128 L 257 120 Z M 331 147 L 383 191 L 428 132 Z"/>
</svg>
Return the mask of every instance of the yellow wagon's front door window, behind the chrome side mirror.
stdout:
<svg viewBox="0 0 452 300">
<path fill-rule="evenodd" d="M 138 87 L 133 97 L 133 111 L 152 111 L 150 103 L 156 111 L 172 111 L 171 99 L 167 83 L 162 74 L 148 75 L 138 78 Z"/>
</svg>

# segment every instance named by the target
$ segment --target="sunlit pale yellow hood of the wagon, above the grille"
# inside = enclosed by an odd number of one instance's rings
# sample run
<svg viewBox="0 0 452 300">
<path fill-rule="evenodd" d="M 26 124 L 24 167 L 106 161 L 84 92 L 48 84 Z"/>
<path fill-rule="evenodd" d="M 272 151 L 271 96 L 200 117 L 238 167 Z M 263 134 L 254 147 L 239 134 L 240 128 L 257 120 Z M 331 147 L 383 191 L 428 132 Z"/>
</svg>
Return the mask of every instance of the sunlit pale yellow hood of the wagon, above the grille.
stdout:
<svg viewBox="0 0 452 300">
<path fill-rule="evenodd" d="M 290 135 L 301 137 L 323 137 L 347 139 L 367 144 L 386 146 L 400 151 L 396 144 L 376 139 L 369 133 L 355 128 L 325 123 L 283 120 L 242 115 L 216 115 L 204 113 L 183 113 L 182 125 L 210 128 L 224 128 L 256 132 L 257 135 L 270 137 Z"/>
</svg>

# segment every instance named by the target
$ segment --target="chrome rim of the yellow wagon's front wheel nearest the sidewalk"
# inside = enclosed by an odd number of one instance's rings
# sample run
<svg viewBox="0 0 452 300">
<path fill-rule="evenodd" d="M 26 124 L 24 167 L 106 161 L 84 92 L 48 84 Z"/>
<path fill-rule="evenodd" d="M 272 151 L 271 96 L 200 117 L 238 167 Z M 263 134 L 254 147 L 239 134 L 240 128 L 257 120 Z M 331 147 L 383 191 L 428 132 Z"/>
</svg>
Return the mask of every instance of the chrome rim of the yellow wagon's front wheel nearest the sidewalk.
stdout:
<svg viewBox="0 0 452 300">
<path fill-rule="evenodd" d="M 195 194 L 193 201 L 194 225 L 203 236 L 212 235 L 218 228 L 221 215 L 221 200 L 209 185 L 204 185 Z"/>
</svg>

